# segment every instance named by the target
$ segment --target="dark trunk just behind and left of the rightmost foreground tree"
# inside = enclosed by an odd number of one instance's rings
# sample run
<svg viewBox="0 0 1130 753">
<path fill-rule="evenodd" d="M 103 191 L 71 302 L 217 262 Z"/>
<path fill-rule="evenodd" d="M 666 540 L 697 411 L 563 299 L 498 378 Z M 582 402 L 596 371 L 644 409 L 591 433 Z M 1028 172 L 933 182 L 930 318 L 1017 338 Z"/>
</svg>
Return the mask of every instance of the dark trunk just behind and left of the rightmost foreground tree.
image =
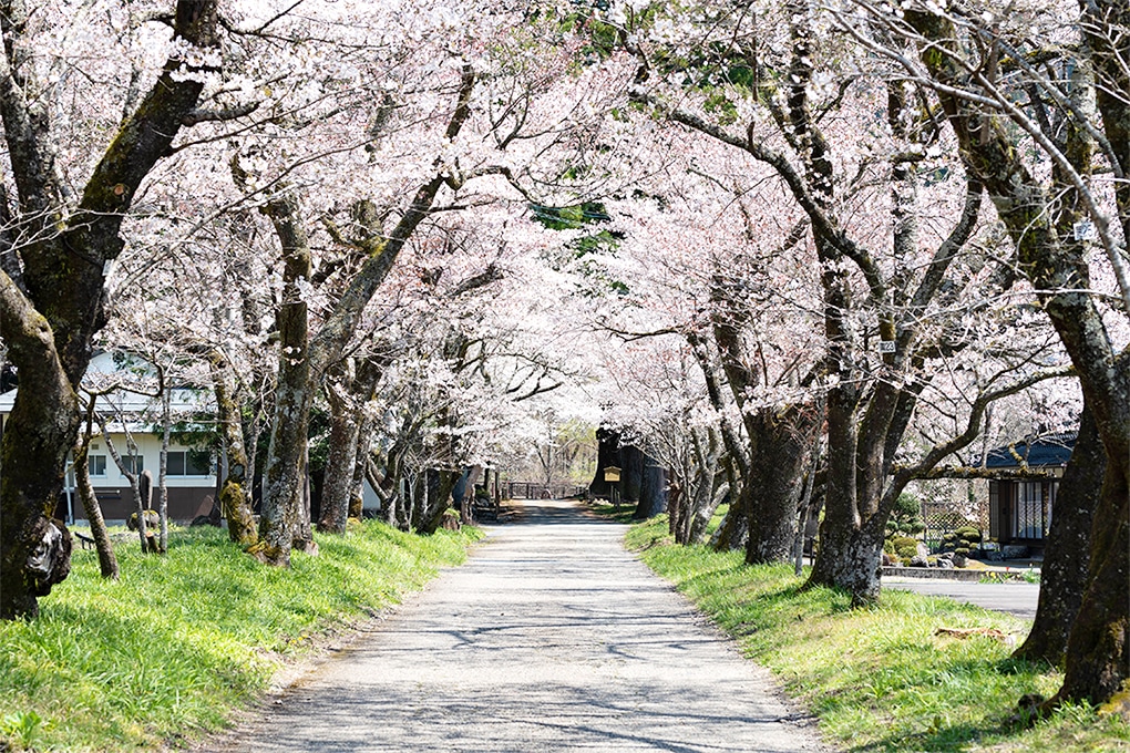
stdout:
<svg viewBox="0 0 1130 753">
<path fill-rule="evenodd" d="M 1090 531 L 1106 470 L 1106 455 L 1090 410 L 1084 405 L 1079 437 L 1055 496 L 1040 577 L 1040 605 L 1027 640 L 1012 656 L 1061 666 L 1071 624 L 1087 588 Z"/>
</svg>

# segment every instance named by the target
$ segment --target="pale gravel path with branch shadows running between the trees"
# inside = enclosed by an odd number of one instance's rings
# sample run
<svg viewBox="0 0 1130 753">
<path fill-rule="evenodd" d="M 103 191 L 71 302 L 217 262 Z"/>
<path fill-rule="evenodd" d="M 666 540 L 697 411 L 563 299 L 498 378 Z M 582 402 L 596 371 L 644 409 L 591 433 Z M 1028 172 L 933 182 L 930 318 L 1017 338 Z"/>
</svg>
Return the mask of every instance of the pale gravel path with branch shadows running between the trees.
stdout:
<svg viewBox="0 0 1130 753">
<path fill-rule="evenodd" d="M 209 750 L 826 750 L 623 533 L 529 502 Z"/>
</svg>

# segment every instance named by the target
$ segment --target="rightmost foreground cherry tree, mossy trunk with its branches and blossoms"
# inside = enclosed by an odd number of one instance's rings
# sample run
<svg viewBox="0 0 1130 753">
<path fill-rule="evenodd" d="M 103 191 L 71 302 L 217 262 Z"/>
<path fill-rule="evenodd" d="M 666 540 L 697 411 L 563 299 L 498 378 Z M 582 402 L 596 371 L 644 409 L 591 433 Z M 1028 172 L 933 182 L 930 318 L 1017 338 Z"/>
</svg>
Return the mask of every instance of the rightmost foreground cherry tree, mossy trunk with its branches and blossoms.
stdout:
<svg viewBox="0 0 1130 753">
<path fill-rule="evenodd" d="M 965 169 L 986 186 L 1018 268 L 1079 375 L 1106 454 L 1095 519 L 1119 523 L 1094 529 L 1063 688 L 1044 708 L 1106 702 L 1130 676 L 1122 587 L 1130 572 L 1130 12 L 1125 3 L 1007 14 L 980 3 L 912 5 L 896 16 L 868 3 L 852 7 L 864 20 L 841 15 L 850 33 L 935 93 Z M 1074 29 L 1081 38 L 1072 38 Z M 1124 701 L 1116 706 L 1128 712 Z"/>
</svg>

